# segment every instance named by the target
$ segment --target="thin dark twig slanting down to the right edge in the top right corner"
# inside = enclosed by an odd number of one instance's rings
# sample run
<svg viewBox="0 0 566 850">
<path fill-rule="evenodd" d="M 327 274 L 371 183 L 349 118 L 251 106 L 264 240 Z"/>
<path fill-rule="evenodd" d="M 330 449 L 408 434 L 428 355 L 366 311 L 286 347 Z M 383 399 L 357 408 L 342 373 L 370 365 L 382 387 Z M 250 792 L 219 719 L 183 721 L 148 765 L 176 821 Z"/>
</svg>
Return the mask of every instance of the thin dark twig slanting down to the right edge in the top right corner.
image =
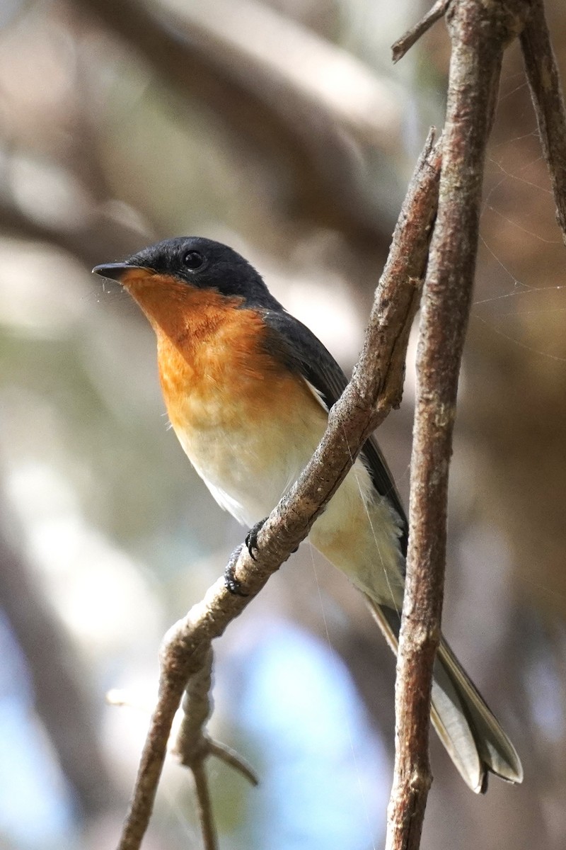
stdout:
<svg viewBox="0 0 566 850">
<path fill-rule="evenodd" d="M 520 40 L 557 220 L 566 243 L 566 109 L 542 0 L 532 0 L 530 17 Z"/>
</svg>

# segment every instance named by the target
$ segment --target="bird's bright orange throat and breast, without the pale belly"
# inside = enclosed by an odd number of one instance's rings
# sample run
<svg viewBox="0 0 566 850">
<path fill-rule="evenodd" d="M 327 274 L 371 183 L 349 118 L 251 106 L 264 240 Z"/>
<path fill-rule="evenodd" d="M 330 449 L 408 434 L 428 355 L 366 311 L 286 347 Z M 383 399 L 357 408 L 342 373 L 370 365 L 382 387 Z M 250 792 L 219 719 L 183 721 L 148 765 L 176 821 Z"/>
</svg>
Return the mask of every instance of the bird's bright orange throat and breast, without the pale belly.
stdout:
<svg viewBox="0 0 566 850">
<path fill-rule="evenodd" d="M 266 328 L 241 297 L 132 269 L 123 280 L 154 327 L 160 379 L 173 425 L 212 424 L 247 400 L 278 399 L 289 377 L 264 346 Z M 188 405 L 188 401 L 190 404 Z M 190 422 L 187 422 L 190 426 Z"/>
</svg>

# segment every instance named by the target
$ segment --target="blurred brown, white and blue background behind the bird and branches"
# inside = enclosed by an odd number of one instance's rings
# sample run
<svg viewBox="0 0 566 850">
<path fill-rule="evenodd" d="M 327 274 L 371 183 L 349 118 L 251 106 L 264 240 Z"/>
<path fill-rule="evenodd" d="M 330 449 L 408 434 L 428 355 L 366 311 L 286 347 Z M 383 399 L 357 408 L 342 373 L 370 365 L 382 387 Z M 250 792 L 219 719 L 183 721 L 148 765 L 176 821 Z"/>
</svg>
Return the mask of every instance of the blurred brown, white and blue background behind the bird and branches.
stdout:
<svg viewBox="0 0 566 850">
<path fill-rule="evenodd" d="M 424 4 L 428 5 L 428 4 Z M 563 72 L 566 7 L 547 0 Z M 225 241 L 350 371 L 406 182 L 442 126 L 410 0 L 3 0 L 0 847 L 115 846 L 165 629 L 244 530 L 167 430 L 152 331 L 95 263 Z M 516 45 L 490 144 L 451 469 L 445 631 L 524 761 L 474 796 L 436 740 L 423 850 L 563 847 L 564 248 Z M 410 360 L 414 357 L 414 341 Z M 414 377 L 380 429 L 408 491 Z M 127 706 L 105 704 L 120 689 Z M 394 660 L 308 544 L 216 643 L 222 850 L 382 846 Z M 148 850 L 200 847 L 172 761 Z"/>
</svg>

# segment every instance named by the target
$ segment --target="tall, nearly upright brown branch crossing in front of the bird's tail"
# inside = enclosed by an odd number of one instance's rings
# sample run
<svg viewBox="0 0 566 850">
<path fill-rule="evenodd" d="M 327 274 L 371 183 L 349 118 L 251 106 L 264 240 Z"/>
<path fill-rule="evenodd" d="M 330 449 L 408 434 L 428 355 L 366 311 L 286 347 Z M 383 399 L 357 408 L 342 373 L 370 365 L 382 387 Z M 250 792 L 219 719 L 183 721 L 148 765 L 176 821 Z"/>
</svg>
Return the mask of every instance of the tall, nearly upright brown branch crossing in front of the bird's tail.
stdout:
<svg viewBox="0 0 566 850">
<path fill-rule="evenodd" d="M 395 776 L 387 850 L 417 850 L 432 781 L 430 690 L 446 558 L 446 507 L 458 375 L 478 246 L 479 204 L 506 43 L 527 7 L 521 0 L 454 0 L 452 54 L 439 210 L 417 351 L 410 531 L 395 686 Z"/>
</svg>

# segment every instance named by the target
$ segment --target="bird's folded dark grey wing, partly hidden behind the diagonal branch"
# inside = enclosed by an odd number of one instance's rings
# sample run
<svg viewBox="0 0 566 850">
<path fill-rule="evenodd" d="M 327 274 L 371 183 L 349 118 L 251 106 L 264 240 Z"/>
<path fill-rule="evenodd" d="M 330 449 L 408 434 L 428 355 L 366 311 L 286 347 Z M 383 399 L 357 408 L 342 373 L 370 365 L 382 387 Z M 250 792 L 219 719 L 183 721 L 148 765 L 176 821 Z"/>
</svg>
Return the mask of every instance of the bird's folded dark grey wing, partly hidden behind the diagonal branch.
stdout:
<svg viewBox="0 0 566 850">
<path fill-rule="evenodd" d="M 263 314 L 268 330 L 267 347 L 285 365 L 300 374 L 317 390 L 328 410 L 338 401 L 348 382 L 332 354 L 312 331 L 289 313 L 266 310 Z M 408 523 L 393 476 L 373 436 L 361 450 L 361 456 L 380 496 L 385 496 L 403 523 L 401 546 L 406 553 Z"/>
</svg>

